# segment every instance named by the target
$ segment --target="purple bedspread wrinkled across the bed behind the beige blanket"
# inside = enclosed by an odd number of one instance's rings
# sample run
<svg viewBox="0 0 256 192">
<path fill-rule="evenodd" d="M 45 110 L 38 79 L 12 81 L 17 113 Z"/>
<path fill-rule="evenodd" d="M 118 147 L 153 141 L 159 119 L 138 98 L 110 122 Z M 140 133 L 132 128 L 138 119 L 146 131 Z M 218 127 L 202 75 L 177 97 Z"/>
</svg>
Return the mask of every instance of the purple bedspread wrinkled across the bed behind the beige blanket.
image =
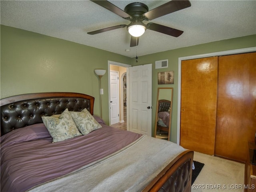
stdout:
<svg viewBox="0 0 256 192">
<path fill-rule="evenodd" d="M 101 125 L 85 136 L 56 143 L 44 124 L 1 136 L 1 192 L 24 192 L 108 156 L 142 136 Z"/>
</svg>

